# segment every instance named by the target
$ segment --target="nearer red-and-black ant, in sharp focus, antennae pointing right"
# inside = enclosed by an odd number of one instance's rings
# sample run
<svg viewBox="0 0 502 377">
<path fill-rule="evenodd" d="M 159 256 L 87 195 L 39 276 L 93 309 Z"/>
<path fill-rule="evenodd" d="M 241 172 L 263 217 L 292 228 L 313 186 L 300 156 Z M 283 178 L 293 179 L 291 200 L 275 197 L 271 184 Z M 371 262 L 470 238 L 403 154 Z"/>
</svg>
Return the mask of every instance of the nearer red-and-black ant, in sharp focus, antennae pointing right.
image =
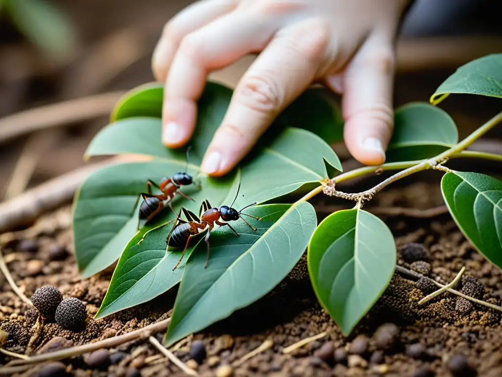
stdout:
<svg viewBox="0 0 502 377">
<path fill-rule="evenodd" d="M 209 204 L 209 201 L 205 200 L 202 202 L 200 211 L 199 211 L 199 216 L 202 211 L 202 216 L 200 216 L 200 219 L 195 216 L 193 212 L 190 210 L 187 210 L 185 208 L 180 208 L 180 211 L 178 212 L 178 216 L 176 217 L 176 220 L 174 222 L 173 229 L 169 232 L 167 238 L 166 238 L 166 243 L 167 246 L 174 246 L 174 247 L 183 247 L 185 245 L 185 248 L 183 249 L 183 253 L 181 254 L 180 260 L 178 260 L 178 263 L 173 268 L 173 271 L 178 267 L 178 265 L 181 263 L 181 260 L 183 259 L 183 256 L 185 255 L 185 252 L 188 247 L 188 243 L 190 242 L 190 239 L 199 232 L 205 230 L 206 228 L 208 229 L 206 236 L 204 237 L 204 241 L 207 244 L 207 257 L 206 257 L 206 264 L 204 265 L 204 268 L 207 268 L 207 262 L 209 261 L 209 236 L 211 234 L 211 230 L 214 227 L 214 224 L 217 224 L 219 226 L 228 226 L 232 232 L 236 235 L 239 236 L 239 234 L 235 231 L 235 229 L 232 228 L 232 226 L 229 223 L 221 222 L 223 221 L 235 221 L 238 220 L 239 218 L 242 219 L 253 231 L 257 231 L 258 229 L 255 228 L 253 225 L 249 224 L 243 217 L 242 215 L 252 217 L 254 219 L 260 220 L 260 218 L 252 215 L 248 215 L 245 213 L 242 213 L 242 211 L 248 207 L 254 206 L 256 204 L 250 204 L 248 206 L 245 206 L 242 208 L 240 211 L 237 211 L 236 209 L 232 208 L 233 204 L 235 203 L 235 199 L 237 199 L 237 195 L 239 194 L 239 189 L 240 189 L 240 183 L 237 188 L 237 194 L 235 195 L 235 198 L 233 199 L 232 204 L 229 206 L 221 206 L 221 207 L 211 207 Z M 188 221 L 184 221 L 180 218 L 181 216 L 181 211 L 185 214 L 185 217 Z"/>
</svg>

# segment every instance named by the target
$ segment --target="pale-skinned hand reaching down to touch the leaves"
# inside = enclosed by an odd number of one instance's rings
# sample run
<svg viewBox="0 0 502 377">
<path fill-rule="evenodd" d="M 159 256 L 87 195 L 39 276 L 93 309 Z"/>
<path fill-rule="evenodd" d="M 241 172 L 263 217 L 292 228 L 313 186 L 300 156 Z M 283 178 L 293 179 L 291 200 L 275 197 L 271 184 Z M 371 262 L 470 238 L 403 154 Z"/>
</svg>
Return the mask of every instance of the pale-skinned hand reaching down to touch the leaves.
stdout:
<svg viewBox="0 0 502 377">
<path fill-rule="evenodd" d="M 170 20 L 152 66 L 166 83 L 163 143 L 191 138 L 207 75 L 260 53 L 235 87 L 202 170 L 221 176 L 313 82 L 342 95 L 344 141 L 366 165 L 385 162 L 393 131 L 395 37 L 409 0 L 202 0 Z"/>
</svg>

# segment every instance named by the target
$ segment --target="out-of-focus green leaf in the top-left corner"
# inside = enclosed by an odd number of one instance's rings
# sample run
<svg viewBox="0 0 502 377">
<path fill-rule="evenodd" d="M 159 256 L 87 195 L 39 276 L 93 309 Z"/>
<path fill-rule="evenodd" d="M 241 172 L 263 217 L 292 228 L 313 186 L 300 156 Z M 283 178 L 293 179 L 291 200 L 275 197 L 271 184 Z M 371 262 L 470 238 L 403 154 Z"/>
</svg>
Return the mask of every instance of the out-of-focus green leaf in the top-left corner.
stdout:
<svg viewBox="0 0 502 377">
<path fill-rule="evenodd" d="M 16 27 L 34 44 L 57 59 L 75 48 L 75 33 L 67 17 L 44 0 L 7 0 L 4 4 Z"/>
</svg>

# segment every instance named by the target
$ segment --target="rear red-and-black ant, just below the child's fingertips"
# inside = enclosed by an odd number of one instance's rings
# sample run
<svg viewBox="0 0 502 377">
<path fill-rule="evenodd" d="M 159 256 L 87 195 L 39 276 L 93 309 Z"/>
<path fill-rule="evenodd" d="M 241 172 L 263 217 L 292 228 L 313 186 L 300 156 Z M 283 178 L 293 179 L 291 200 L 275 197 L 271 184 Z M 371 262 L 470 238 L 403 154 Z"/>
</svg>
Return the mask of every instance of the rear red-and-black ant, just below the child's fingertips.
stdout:
<svg viewBox="0 0 502 377">
<path fill-rule="evenodd" d="M 192 184 L 192 176 L 187 173 L 189 152 L 190 152 L 190 147 L 187 148 L 187 166 L 184 172 L 175 173 L 171 178 L 164 177 L 162 178 L 159 184 L 155 183 L 151 179 L 147 180 L 147 193 L 139 194 L 138 198 L 136 198 L 136 202 L 133 207 L 133 214 L 134 214 L 134 210 L 138 205 L 140 197 L 143 197 L 143 202 L 140 205 L 137 230 L 140 230 L 141 220 L 146 220 L 146 222 L 149 222 L 155 216 L 157 216 L 157 214 L 164 208 L 164 201 L 166 200 L 168 201 L 167 205 L 169 206 L 171 211 L 173 211 L 173 213 L 176 215 L 173 205 L 171 204 L 171 201 L 173 200 L 176 194 L 180 194 L 185 199 L 193 200 L 195 202 L 193 198 L 190 198 L 189 196 L 183 194 L 180 190 L 181 186 L 187 186 Z M 153 195 L 152 186 L 157 187 L 157 189 L 159 189 L 162 192 L 162 194 Z"/>
</svg>

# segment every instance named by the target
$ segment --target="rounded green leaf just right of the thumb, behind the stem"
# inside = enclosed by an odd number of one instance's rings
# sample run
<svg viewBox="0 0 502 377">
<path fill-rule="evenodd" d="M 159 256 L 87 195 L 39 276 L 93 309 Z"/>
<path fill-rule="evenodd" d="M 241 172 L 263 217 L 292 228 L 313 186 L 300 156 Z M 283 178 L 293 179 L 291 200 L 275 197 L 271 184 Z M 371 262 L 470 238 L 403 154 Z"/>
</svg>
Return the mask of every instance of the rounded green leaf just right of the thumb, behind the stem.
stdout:
<svg viewBox="0 0 502 377">
<path fill-rule="evenodd" d="M 396 110 L 386 162 L 431 158 L 457 142 L 457 127 L 448 113 L 427 103 L 410 103 Z"/>
</svg>

